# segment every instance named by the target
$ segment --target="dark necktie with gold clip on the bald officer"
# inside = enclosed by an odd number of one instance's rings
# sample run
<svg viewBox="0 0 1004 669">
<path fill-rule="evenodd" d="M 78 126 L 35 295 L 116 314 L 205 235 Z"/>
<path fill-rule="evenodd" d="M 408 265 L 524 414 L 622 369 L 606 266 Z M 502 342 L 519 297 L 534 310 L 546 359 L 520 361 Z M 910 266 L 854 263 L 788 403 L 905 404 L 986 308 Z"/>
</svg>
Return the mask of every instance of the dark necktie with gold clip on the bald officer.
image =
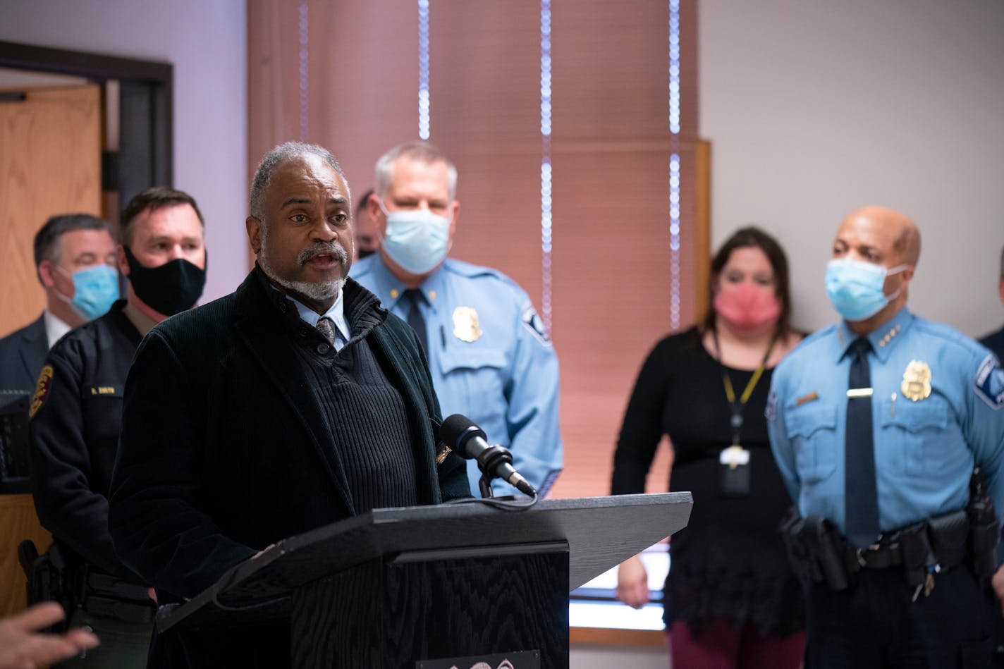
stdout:
<svg viewBox="0 0 1004 669">
<path fill-rule="evenodd" d="M 847 426 L 844 444 L 844 511 L 847 538 L 859 548 L 878 535 L 878 494 L 875 490 L 875 452 L 871 432 L 871 375 L 866 339 L 850 345 L 847 379 Z"/>
</svg>

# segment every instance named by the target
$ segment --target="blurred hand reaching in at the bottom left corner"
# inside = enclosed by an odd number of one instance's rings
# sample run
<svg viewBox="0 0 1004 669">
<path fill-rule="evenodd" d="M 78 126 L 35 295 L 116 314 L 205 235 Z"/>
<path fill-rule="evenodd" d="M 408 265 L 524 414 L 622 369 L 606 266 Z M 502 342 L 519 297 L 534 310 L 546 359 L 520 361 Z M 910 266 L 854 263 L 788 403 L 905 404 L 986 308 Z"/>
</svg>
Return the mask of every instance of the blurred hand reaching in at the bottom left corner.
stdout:
<svg viewBox="0 0 1004 669">
<path fill-rule="evenodd" d="M 72 657 L 98 644 L 84 630 L 66 634 L 39 634 L 36 630 L 63 619 L 62 607 L 54 602 L 37 604 L 27 611 L 0 620 L 0 669 L 34 669 Z"/>
</svg>

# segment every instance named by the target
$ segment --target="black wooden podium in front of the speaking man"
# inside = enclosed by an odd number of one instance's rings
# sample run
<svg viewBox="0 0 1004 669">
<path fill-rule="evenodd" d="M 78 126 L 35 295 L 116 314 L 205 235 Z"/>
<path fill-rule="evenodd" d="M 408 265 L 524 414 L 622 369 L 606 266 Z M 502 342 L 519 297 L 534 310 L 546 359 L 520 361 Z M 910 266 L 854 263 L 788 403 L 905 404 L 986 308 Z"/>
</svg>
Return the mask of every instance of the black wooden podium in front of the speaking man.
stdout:
<svg viewBox="0 0 1004 669">
<path fill-rule="evenodd" d="M 295 669 L 563 669 L 568 593 L 684 527 L 692 504 L 671 492 L 375 509 L 237 565 L 162 607 L 157 627 L 288 623 Z"/>
</svg>

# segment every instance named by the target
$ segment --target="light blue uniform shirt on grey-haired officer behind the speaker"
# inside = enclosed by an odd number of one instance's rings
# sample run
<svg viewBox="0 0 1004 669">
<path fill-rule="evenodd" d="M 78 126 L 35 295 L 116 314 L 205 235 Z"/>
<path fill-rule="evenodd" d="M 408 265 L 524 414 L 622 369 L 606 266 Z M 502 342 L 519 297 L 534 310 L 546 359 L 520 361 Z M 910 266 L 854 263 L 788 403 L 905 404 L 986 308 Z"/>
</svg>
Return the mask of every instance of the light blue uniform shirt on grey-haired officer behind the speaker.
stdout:
<svg viewBox="0 0 1004 669">
<path fill-rule="evenodd" d="M 350 275 L 405 320 L 406 286 L 379 253 Z M 512 451 L 513 466 L 541 494 L 561 471 L 558 359 L 529 296 L 490 267 L 448 259 L 425 280 L 420 304 L 429 342 L 429 369 L 443 416 L 463 414 Z M 468 462 L 474 494 L 481 472 Z M 495 481 L 496 494 L 516 494 Z"/>
</svg>

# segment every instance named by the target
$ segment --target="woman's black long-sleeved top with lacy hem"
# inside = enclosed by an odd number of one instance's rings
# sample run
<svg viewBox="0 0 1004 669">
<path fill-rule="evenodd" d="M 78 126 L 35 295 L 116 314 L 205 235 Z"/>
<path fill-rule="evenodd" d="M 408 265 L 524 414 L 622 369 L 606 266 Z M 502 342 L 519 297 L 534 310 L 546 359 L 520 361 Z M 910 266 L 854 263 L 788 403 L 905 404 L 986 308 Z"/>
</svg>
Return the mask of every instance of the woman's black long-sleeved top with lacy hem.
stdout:
<svg viewBox="0 0 1004 669">
<path fill-rule="evenodd" d="M 753 376 L 732 370 L 741 395 Z M 690 490 L 694 509 L 674 534 L 664 591 L 667 624 L 699 628 L 716 618 L 786 635 L 803 625 L 802 599 L 777 526 L 791 504 L 774 464 L 763 417 L 772 370 L 745 406 L 740 443 L 750 451 L 750 495 L 719 494 L 719 454 L 732 442 L 722 368 L 696 327 L 656 345 L 639 374 L 614 455 L 613 494 L 645 491 L 664 434 L 674 449 L 671 490 Z"/>
</svg>

